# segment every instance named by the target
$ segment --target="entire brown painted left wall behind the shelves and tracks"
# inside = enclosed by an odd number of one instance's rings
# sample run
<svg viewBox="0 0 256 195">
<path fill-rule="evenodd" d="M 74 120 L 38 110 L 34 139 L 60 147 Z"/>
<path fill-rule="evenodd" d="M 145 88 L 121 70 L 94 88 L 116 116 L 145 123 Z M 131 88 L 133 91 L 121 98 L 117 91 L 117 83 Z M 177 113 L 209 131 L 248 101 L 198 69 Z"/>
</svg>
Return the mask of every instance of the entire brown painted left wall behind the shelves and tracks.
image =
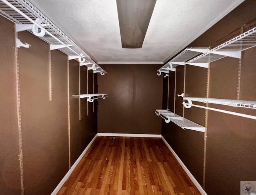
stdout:
<svg viewBox="0 0 256 195">
<path fill-rule="evenodd" d="M 4 28 L 2 28 L 4 27 Z M 52 100 L 49 91 L 50 46 L 29 32 L 18 38 L 30 48 L 15 50 L 14 24 L 0 17 L 0 194 L 21 194 L 19 162 L 18 98 L 16 95 L 16 56 L 20 84 L 21 147 L 23 151 L 24 194 L 50 194 L 69 170 L 68 90 L 70 90 L 70 139 L 72 164 L 97 133 L 97 109 L 81 100 L 81 120 L 77 116 L 78 62 L 66 54 L 51 51 Z M 69 80 L 68 84 L 68 71 Z M 89 90 L 92 91 L 92 72 Z M 87 68 L 81 67 L 81 93 L 87 93 Z M 97 76 L 94 77 L 97 84 Z M 70 86 L 70 89 L 69 89 Z M 76 102 L 75 102 L 76 103 Z M 96 105 L 97 106 L 97 105 Z M 95 107 L 96 107 L 95 106 Z M 77 119 L 78 118 L 78 119 Z M 76 119 L 76 120 L 75 120 Z M 77 128 L 76 128 L 77 127 Z M 79 133 L 76 133 L 78 131 Z"/>
</svg>

